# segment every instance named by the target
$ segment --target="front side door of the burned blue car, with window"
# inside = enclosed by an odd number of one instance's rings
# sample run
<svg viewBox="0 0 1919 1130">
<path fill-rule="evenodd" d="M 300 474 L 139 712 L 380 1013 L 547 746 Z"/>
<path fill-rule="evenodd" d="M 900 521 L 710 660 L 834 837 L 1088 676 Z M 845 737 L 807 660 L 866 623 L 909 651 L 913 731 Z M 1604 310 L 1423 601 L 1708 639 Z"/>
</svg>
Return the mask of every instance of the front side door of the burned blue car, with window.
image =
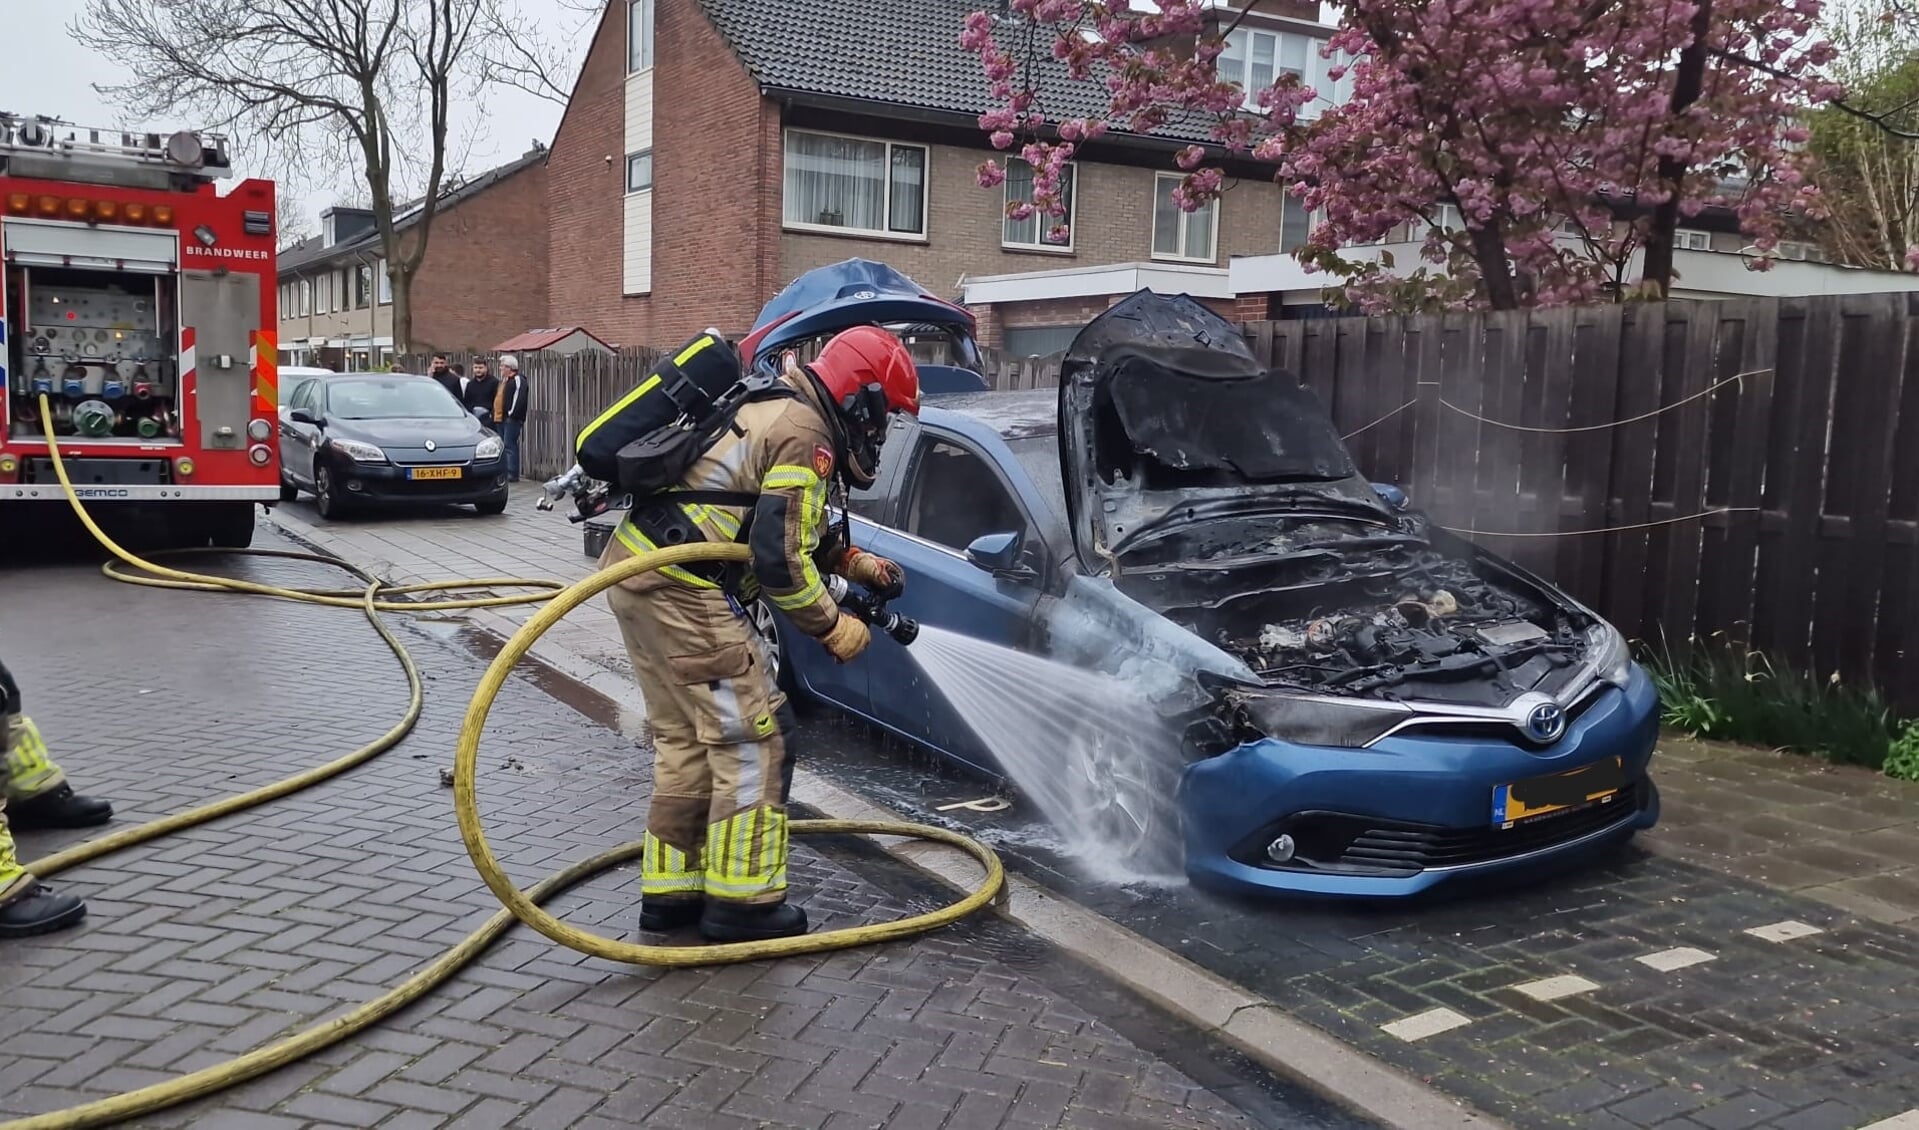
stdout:
<svg viewBox="0 0 1919 1130">
<path fill-rule="evenodd" d="M 1038 524 L 1017 489 L 1023 472 L 998 439 L 923 428 L 896 493 L 892 526 L 873 528 L 867 549 L 906 568 L 906 595 L 892 602 L 923 625 L 988 643 L 1027 647 L 1044 568 L 1000 577 L 967 560 L 965 549 L 988 533 L 1038 541 Z M 950 758 L 992 769 L 971 727 L 898 643 L 877 637 L 869 668 L 871 718 Z"/>
</svg>

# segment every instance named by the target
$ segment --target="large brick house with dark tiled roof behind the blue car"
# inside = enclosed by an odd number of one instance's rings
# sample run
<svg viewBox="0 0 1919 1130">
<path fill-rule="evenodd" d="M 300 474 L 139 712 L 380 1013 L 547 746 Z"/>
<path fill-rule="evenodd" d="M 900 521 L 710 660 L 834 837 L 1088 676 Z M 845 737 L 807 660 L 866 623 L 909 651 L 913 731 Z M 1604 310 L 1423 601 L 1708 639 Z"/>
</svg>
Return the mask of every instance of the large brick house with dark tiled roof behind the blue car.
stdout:
<svg viewBox="0 0 1919 1130">
<path fill-rule="evenodd" d="M 958 35 L 981 2 L 612 0 L 549 157 L 547 320 L 620 343 L 743 332 L 794 276 L 856 255 L 965 301 L 1013 353 L 1057 349 L 1138 286 L 1234 313 L 1232 257 L 1303 238 L 1270 171 L 1228 167 L 1222 200 L 1186 215 L 1169 196 L 1184 142 L 1113 132 L 1073 169 L 1063 244 L 979 188 L 986 84 Z M 1236 33 L 1251 79 L 1322 73 L 1318 6 L 1259 2 Z M 1103 102 L 1063 75 L 1048 92 Z"/>
</svg>

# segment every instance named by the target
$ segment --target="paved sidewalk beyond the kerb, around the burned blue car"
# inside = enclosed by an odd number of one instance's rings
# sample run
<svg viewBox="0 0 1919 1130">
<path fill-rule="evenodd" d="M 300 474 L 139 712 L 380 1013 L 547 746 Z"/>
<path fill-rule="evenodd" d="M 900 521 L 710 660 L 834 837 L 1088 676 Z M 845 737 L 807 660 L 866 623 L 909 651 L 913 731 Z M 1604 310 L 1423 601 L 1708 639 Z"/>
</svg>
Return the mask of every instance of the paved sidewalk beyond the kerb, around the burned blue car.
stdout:
<svg viewBox="0 0 1919 1130">
<path fill-rule="evenodd" d="M 319 526 L 284 508 L 276 520 L 386 562 L 395 579 L 591 572 L 578 528 L 533 512 L 532 491 L 499 520 Z M 491 625 L 510 631 L 526 614 Z M 562 631 L 535 656 L 631 702 L 604 604 Z M 1220 1030 L 1255 1017 L 1293 1024 L 1268 1042 L 1282 1061 L 1309 1038 L 1307 1021 L 1315 1038 L 1522 1126 L 1919 1120 L 1919 934 L 1902 927 L 1919 921 L 1919 787 L 1685 741 L 1664 742 L 1654 767 L 1666 817 L 1639 850 L 1499 900 L 1305 909 L 1140 898 L 1007 858 L 1109 917 L 1142 953 L 1199 967 L 1209 980 L 1196 994 L 1230 1001 Z M 1000 819 L 890 804 L 986 833 Z"/>
</svg>

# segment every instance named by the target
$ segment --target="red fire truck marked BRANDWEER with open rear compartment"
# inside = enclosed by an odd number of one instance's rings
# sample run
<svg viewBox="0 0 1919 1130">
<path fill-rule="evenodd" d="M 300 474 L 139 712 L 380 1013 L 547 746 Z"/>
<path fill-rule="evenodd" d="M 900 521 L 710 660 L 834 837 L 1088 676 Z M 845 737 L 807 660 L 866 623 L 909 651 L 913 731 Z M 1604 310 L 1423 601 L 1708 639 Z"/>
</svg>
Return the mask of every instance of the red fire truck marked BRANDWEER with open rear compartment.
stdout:
<svg viewBox="0 0 1919 1130">
<path fill-rule="evenodd" d="M 0 530 L 63 501 L 246 547 L 278 501 L 274 186 L 226 140 L 0 113 Z M 48 412 L 40 412 L 40 397 Z"/>
</svg>

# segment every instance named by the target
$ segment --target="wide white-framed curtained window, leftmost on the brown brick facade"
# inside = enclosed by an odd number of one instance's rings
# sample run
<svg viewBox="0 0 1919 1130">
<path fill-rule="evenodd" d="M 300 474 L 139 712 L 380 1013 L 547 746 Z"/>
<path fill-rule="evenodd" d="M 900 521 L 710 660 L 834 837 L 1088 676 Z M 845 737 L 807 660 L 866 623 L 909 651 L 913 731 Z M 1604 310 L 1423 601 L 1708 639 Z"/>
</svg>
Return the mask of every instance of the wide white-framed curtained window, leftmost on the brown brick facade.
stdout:
<svg viewBox="0 0 1919 1130">
<path fill-rule="evenodd" d="M 787 130 L 785 223 L 927 234 L 927 148 Z"/>
</svg>

